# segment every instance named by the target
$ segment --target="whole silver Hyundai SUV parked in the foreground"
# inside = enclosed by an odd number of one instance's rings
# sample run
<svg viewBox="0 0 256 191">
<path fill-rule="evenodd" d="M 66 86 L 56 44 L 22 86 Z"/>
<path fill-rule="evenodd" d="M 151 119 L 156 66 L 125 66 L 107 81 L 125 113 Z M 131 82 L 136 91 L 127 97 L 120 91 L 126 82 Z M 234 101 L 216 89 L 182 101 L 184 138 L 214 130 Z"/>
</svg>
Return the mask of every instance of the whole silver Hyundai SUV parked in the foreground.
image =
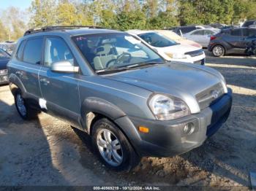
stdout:
<svg viewBox="0 0 256 191">
<path fill-rule="evenodd" d="M 27 31 L 8 63 L 24 120 L 53 114 L 91 136 L 116 171 L 143 156 L 199 147 L 227 120 L 231 91 L 218 71 L 167 62 L 127 33 L 99 28 Z"/>
</svg>

